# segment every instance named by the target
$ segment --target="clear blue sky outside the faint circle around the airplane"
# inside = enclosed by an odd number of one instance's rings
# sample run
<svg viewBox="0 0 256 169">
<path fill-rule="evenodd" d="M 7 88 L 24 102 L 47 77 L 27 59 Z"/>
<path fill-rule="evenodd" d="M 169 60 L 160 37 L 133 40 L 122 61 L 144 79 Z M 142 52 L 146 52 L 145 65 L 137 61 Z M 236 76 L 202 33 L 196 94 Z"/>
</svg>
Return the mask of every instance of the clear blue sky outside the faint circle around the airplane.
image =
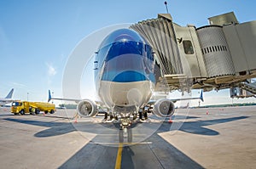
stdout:
<svg viewBox="0 0 256 169">
<path fill-rule="evenodd" d="M 84 37 L 109 25 L 156 18 L 157 14 L 166 13 L 164 2 L 0 0 L 0 97 L 12 87 L 15 99 L 26 100 L 28 96 L 29 100 L 46 101 L 48 89 L 61 97 L 68 56 Z M 208 25 L 207 18 L 230 11 L 235 12 L 241 23 L 256 20 L 254 1 L 167 2 L 169 13 L 178 25 Z M 205 104 L 230 102 L 226 90 L 205 93 L 205 99 L 208 100 Z"/>
</svg>

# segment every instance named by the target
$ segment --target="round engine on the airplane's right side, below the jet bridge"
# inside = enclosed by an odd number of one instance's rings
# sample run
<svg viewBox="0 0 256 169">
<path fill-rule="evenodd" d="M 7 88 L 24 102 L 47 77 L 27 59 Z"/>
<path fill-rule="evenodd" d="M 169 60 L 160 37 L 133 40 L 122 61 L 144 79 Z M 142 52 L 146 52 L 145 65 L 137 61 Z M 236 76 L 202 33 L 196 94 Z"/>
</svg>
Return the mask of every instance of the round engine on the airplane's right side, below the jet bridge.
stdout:
<svg viewBox="0 0 256 169">
<path fill-rule="evenodd" d="M 159 99 L 154 104 L 153 113 L 160 117 L 169 117 L 174 114 L 174 104 L 169 99 Z"/>
</svg>

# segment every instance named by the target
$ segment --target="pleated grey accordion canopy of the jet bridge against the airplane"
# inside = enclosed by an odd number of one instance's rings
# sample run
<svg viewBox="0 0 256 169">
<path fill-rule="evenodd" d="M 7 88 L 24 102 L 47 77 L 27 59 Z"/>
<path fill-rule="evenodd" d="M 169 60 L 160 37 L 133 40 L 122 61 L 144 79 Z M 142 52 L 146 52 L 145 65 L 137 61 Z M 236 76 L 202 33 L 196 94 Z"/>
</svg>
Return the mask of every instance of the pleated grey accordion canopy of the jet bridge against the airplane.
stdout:
<svg viewBox="0 0 256 169">
<path fill-rule="evenodd" d="M 166 16 L 153 20 L 144 20 L 136 25 L 131 25 L 131 29 L 147 39 L 154 48 L 158 64 L 160 64 L 164 74 L 181 74 L 183 73 L 183 68 L 172 20 L 170 19 L 171 15 L 167 14 Z"/>
</svg>

